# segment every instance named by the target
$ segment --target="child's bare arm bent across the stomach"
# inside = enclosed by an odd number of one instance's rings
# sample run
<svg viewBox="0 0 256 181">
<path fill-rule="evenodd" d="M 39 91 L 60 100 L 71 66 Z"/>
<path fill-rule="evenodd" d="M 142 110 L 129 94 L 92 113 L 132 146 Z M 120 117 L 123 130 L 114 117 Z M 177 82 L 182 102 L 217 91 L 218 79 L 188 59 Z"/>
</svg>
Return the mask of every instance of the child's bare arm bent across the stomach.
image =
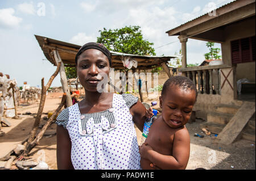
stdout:
<svg viewBox="0 0 256 181">
<path fill-rule="evenodd" d="M 187 129 L 175 133 L 172 155 L 163 155 L 154 151 L 150 145 L 143 144 L 139 150 L 146 158 L 160 169 L 185 169 L 189 159 L 190 139 Z"/>
</svg>

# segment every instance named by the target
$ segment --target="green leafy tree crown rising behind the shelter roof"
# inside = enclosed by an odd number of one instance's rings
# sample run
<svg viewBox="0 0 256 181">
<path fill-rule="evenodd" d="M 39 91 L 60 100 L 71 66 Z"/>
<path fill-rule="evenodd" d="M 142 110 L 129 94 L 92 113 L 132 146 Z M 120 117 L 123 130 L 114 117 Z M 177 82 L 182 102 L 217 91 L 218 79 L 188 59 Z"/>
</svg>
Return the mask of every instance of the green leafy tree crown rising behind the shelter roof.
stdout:
<svg viewBox="0 0 256 181">
<path fill-rule="evenodd" d="M 104 28 L 103 31 L 99 31 L 100 37 L 97 37 L 97 42 L 104 44 L 114 52 L 155 55 L 155 49 L 151 47 L 154 43 L 144 40 L 139 28 L 141 27 L 126 26 L 115 30 Z"/>
</svg>

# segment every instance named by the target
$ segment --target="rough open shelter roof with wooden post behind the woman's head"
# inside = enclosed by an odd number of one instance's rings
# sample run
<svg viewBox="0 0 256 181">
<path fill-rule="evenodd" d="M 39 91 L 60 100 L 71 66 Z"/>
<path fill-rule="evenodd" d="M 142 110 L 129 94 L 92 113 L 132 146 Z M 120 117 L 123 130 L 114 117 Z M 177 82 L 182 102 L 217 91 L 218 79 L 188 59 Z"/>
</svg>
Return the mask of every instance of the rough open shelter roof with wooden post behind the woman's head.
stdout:
<svg viewBox="0 0 256 181">
<path fill-rule="evenodd" d="M 50 39 L 44 36 L 35 35 L 35 37 L 49 62 L 54 66 L 56 66 L 58 62 L 62 62 L 60 68 L 61 84 L 63 86 L 63 91 L 67 94 L 67 99 L 69 99 L 70 93 L 68 91 L 68 82 L 64 66 L 75 66 L 75 57 L 81 46 Z M 177 58 L 177 56 L 142 56 L 137 54 L 110 52 L 112 53 L 112 68 L 115 70 L 124 70 L 125 66 L 123 61 L 127 60 L 127 58 L 131 58 L 137 62 L 137 67 L 135 68 L 133 66 L 131 70 L 148 70 L 162 66 L 168 77 L 171 77 L 170 68 L 167 66 L 168 61 L 170 61 L 171 58 Z"/>
</svg>

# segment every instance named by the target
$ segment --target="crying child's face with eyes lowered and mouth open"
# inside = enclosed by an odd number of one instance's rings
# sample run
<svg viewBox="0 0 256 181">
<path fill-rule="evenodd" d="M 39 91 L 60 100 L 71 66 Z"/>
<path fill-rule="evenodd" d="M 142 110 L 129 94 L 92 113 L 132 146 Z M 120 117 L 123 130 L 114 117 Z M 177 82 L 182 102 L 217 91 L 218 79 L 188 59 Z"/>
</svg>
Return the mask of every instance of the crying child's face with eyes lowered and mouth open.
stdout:
<svg viewBox="0 0 256 181">
<path fill-rule="evenodd" d="M 166 95 L 160 96 L 159 99 L 163 120 L 170 127 L 179 128 L 188 123 L 196 102 L 196 92 L 170 85 Z"/>
</svg>

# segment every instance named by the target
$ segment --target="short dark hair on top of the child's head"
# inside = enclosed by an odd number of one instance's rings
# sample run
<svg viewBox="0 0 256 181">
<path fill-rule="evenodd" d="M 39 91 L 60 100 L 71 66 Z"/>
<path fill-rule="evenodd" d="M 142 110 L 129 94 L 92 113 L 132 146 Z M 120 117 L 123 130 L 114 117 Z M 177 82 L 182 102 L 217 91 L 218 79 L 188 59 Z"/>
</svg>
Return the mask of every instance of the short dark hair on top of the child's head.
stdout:
<svg viewBox="0 0 256 181">
<path fill-rule="evenodd" d="M 191 79 L 184 77 L 184 76 L 174 76 L 167 79 L 166 82 L 164 82 L 163 89 L 161 92 L 161 96 L 164 96 L 166 94 L 166 91 L 168 90 L 169 86 L 179 86 L 181 89 L 187 90 L 194 90 L 196 92 L 196 98 L 197 98 L 197 89 L 195 83 L 191 81 Z"/>
</svg>

